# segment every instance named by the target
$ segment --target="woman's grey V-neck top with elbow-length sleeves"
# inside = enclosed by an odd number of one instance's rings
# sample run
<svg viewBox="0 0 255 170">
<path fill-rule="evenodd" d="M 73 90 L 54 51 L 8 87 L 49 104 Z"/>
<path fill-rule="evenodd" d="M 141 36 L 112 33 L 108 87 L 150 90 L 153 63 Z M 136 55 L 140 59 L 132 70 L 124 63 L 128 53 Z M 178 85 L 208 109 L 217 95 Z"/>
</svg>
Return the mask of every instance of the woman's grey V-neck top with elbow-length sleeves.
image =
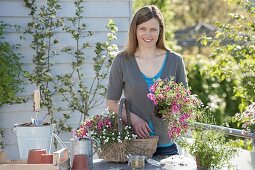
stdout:
<svg viewBox="0 0 255 170">
<path fill-rule="evenodd" d="M 187 78 L 183 59 L 180 55 L 167 51 L 166 64 L 160 76 L 161 79 L 175 77 L 177 83 L 187 86 Z M 167 135 L 166 123 L 154 115 L 154 105 L 147 94 L 149 93 L 146 81 L 143 78 L 134 56 L 117 55 L 112 63 L 107 100 L 119 100 L 124 90 L 124 96 L 130 105 L 130 111 L 143 118 L 147 123 L 152 121 L 155 134 L 159 136 L 158 144 L 167 144 L 170 139 Z"/>
</svg>

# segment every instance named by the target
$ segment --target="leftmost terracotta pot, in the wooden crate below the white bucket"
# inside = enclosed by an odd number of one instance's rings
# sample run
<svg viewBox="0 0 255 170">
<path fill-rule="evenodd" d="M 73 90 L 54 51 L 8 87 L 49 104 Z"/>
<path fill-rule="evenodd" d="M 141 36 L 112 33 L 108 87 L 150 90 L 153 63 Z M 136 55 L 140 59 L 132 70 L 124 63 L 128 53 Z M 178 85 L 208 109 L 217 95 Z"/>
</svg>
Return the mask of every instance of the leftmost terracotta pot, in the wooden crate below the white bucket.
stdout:
<svg viewBox="0 0 255 170">
<path fill-rule="evenodd" d="M 28 164 L 41 164 L 42 154 L 46 154 L 46 149 L 31 149 L 28 152 Z"/>
</svg>

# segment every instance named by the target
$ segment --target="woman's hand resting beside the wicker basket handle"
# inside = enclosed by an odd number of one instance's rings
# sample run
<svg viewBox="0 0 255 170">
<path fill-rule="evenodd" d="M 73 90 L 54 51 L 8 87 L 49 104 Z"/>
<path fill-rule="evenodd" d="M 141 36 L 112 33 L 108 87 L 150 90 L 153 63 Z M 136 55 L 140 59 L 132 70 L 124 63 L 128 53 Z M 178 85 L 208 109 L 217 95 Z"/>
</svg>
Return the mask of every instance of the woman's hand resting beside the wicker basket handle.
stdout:
<svg viewBox="0 0 255 170">
<path fill-rule="evenodd" d="M 139 138 L 149 138 L 152 132 L 148 123 L 134 113 L 130 113 L 132 127 Z"/>
</svg>

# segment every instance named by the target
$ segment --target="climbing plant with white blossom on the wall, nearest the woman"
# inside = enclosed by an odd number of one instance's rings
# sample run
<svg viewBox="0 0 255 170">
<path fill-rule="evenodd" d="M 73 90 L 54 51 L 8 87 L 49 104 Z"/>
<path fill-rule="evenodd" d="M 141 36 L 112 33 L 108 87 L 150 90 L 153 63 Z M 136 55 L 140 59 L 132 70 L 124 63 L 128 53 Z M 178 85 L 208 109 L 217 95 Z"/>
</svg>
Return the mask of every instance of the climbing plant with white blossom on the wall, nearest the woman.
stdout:
<svg viewBox="0 0 255 170">
<path fill-rule="evenodd" d="M 109 68 L 118 48 L 112 43 L 116 39 L 117 27 L 113 20 L 110 20 L 106 26 L 109 33 L 106 42 L 97 42 L 95 44 L 93 57 L 93 74 L 92 83 L 86 83 L 86 72 L 82 68 L 86 67 L 84 50 L 91 48 L 87 42 L 82 42 L 82 37 L 93 36 L 92 31 L 87 31 L 86 25 L 81 22 L 83 19 L 82 6 L 83 0 L 75 1 L 76 12 L 75 17 L 68 18 L 71 26 L 65 26 L 64 30 L 72 35 L 75 40 L 75 48 L 65 47 L 62 52 L 73 57 L 72 72 L 63 76 L 58 76 L 58 80 L 62 82 L 59 92 L 63 96 L 63 100 L 68 102 L 68 108 L 71 111 L 79 111 L 82 113 L 80 123 L 86 119 L 89 111 L 104 101 L 106 87 L 103 85 L 104 80 L 109 72 Z"/>
</svg>

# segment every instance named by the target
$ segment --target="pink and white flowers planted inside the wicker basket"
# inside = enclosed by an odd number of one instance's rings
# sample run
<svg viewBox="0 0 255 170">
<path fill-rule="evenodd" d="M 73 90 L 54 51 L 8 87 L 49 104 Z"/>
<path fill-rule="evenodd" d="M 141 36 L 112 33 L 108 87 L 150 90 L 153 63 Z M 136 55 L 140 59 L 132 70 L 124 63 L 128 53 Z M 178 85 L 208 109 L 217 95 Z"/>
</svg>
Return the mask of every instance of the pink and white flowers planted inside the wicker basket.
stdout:
<svg viewBox="0 0 255 170">
<path fill-rule="evenodd" d="M 118 132 L 118 115 L 107 111 L 104 115 L 93 115 L 83 122 L 75 131 L 77 138 L 90 137 L 99 142 L 100 145 L 110 143 L 122 143 L 136 139 L 132 128 L 123 123 L 122 135 Z"/>
</svg>

